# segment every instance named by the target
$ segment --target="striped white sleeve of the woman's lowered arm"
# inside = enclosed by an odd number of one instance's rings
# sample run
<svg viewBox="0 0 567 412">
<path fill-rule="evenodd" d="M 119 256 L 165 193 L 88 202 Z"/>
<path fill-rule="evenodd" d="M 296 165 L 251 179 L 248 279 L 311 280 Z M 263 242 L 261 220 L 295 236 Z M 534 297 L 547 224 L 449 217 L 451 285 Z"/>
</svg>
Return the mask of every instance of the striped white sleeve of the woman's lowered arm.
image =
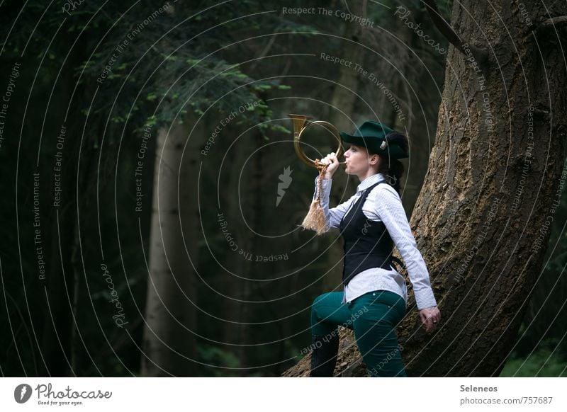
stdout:
<svg viewBox="0 0 567 412">
<path fill-rule="evenodd" d="M 413 285 L 417 309 L 437 306 L 430 283 L 430 275 L 425 261 L 417 249 L 417 244 L 405 216 L 400 196 L 388 185 L 378 185 L 369 193 L 376 205 L 376 214 L 384 222 L 395 246 L 400 251 L 408 276 Z"/>
</svg>

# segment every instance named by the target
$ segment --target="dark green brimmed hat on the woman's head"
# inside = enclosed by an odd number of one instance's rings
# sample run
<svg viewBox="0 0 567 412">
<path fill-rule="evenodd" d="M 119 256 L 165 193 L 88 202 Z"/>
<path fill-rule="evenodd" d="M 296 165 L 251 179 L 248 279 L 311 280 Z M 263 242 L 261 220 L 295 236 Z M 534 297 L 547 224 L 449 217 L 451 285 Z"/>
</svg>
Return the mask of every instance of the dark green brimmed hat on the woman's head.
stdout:
<svg viewBox="0 0 567 412">
<path fill-rule="evenodd" d="M 395 142 L 388 143 L 386 135 L 393 132 L 390 127 L 374 120 L 366 120 L 352 135 L 341 132 L 343 142 L 355 144 L 356 146 L 366 147 L 371 153 L 390 156 L 391 159 L 405 159 L 410 154 Z"/>
</svg>

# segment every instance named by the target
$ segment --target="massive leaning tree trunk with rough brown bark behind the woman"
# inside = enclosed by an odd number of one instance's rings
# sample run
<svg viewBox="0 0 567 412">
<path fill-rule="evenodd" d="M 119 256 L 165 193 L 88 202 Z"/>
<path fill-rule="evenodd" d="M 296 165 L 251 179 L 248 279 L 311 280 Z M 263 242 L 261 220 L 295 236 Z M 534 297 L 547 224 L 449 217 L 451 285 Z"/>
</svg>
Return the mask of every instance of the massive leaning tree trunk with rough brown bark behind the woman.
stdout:
<svg viewBox="0 0 567 412">
<path fill-rule="evenodd" d="M 517 3 L 454 6 L 454 28 L 487 50 L 488 67 L 483 75 L 449 50 L 436 142 L 410 221 L 442 322 L 425 334 L 410 293 L 398 329 L 410 376 L 498 376 L 541 269 L 562 169 L 567 175 L 564 28 L 541 21 L 567 15 L 567 5 L 525 6 L 533 32 Z M 305 374 L 308 358 L 286 375 Z M 353 348 L 342 350 L 335 374 L 364 374 L 357 362 Z"/>
</svg>

